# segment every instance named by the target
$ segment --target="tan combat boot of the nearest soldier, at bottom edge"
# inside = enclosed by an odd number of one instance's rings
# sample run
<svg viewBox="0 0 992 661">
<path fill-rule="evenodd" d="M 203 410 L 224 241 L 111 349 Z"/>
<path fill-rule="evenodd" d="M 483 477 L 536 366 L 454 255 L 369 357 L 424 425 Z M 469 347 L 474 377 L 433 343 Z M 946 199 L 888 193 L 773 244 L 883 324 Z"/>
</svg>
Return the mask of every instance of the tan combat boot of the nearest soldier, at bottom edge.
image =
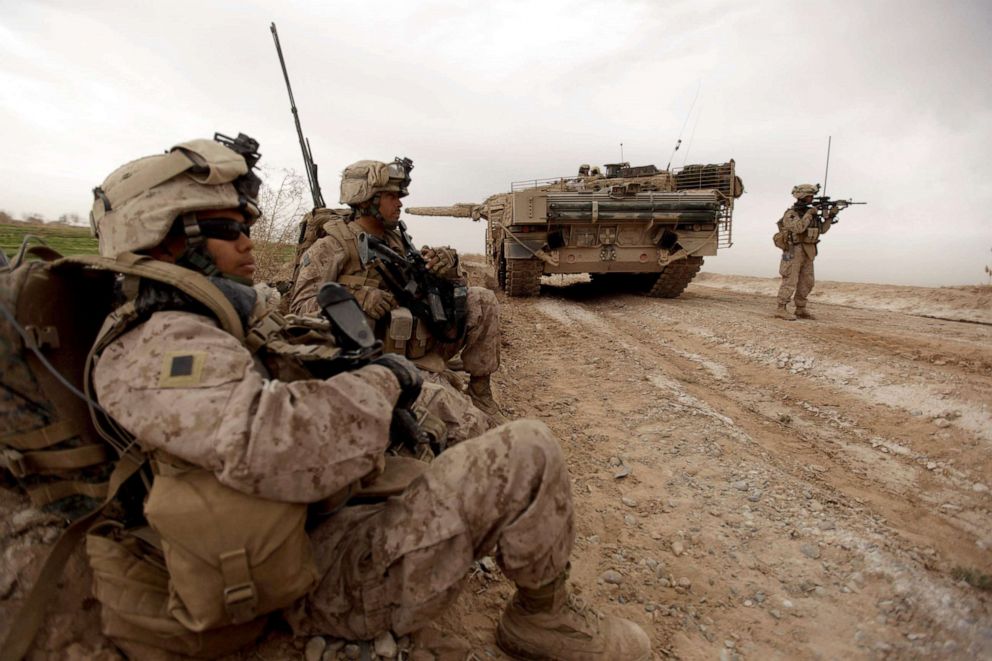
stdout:
<svg viewBox="0 0 992 661">
<path fill-rule="evenodd" d="M 517 588 L 496 628 L 496 644 L 521 659 L 648 661 L 651 641 L 619 617 L 603 615 L 569 594 L 567 572 L 541 588 Z"/>
</svg>

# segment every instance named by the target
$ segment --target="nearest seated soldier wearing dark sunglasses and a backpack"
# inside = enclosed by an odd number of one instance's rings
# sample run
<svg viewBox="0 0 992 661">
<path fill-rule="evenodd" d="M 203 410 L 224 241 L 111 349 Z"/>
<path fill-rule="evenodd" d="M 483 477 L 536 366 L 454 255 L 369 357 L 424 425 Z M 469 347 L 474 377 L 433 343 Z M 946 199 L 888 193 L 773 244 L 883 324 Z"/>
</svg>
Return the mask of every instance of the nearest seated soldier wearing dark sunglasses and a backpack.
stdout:
<svg viewBox="0 0 992 661">
<path fill-rule="evenodd" d="M 93 217 L 103 256 L 181 266 L 169 277 L 226 298 L 242 337 L 257 339 L 261 320 L 278 316 L 243 284 L 254 271 L 248 235 L 259 215 L 253 156 L 194 140 L 133 161 L 96 189 Z M 103 411 L 151 458 L 143 516 L 161 535 L 169 574 L 167 603 L 160 593 L 139 599 L 120 586 L 141 576 L 149 583 L 146 537 L 114 527 L 107 535 L 116 545 L 88 541 L 104 632 L 129 653 L 175 650 L 169 641 L 187 638 L 202 653 L 211 635 L 230 645 L 275 611 L 298 635 L 402 635 L 435 620 L 473 560 L 495 549 L 517 586 L 497 629 L 508 654 L 650 658 L 637 625 L 580 608 L 569 594 L 571 487 L 544 425 L 499 427 L 423 465 L 388 500 L 355 504 L 349 495 L 374 493 L 384 464 L 389 474 L 394 408 L 421 385 L 408 360 L 388 354 L 328 378 L 281 380 L 257 359 L 264 345 L 239 339 L 198 299 L 144 278 L 122 295 L 92 382 Z M 306 504 L 321 502 L 324 514 L 304 528 Z M 114 564 L 121 555 L 130 559 Z M 149 604 L 162 605 L 151 612 Z"/>
</svg>

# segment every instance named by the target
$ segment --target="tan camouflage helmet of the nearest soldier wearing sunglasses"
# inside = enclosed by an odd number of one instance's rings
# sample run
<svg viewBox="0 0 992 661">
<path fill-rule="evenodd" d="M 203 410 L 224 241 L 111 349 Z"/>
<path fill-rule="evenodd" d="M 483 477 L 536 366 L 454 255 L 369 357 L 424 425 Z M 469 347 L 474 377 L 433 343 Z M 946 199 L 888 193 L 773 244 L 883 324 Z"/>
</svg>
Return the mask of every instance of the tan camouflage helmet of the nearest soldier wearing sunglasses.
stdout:
<svg viewBox="0 0 992 661">
<path fill-rule="evenodd" d="M 240 209 L 246 222 L 254 221 L 261 215 L 261 181 L 251 172 L 257 149 L 243 134 L 237 140 L 217 134 L 114 170 L 93 189 L 90 224 L 100 254 L 116 258 L 157 246 L 177 218 L 195 218 L 196 211 Z"/>
</svg>

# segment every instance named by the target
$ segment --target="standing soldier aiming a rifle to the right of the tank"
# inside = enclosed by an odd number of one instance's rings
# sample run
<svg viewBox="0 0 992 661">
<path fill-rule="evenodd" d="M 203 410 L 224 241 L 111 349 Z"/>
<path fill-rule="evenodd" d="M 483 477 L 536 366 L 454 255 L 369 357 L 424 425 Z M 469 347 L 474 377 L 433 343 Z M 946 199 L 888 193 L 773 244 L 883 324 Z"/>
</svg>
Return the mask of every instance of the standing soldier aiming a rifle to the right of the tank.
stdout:
<svg viewBox="0 0 992 661">
<path fill-rule="evenodd" d="M 795 320 L 814 319 L 806 309 L 806 298 L 813 290 L 813 260 L 816 259 L 816 244 L 820 235 L 825 234 L 834 223 L 838 207 L 834 205 L 821 218 L 819 209 L 813 205 L 813 197 L 819 192 L 819 184 L 799 184 L 792 189 L 796 203 L 789 207 L 782 220 L 778 221 L 779 233 L 776 235 L 776 245 L 782 248 L 782 262 L 779 264 L 779 274 L 782 284 L 778 289 L 778 309 L 775 316 L 779 319 Z M 796 313 L 792 314 L 786 307 L 795 293 Z"/>
</svg>

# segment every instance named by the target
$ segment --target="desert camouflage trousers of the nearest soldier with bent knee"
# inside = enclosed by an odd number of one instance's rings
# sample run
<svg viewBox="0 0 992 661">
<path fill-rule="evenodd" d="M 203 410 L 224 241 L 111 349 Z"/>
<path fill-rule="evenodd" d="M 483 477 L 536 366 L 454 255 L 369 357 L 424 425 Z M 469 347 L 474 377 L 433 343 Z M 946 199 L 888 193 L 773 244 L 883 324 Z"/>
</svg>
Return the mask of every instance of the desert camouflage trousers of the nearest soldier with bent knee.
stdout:
<svg viewBox="0 0 992 661">
<path fill-rule="evenodd" d="M 575 536 L 564 457 L 542 423 L 497 427 L 443 454 L 403 493 L 310 532 L 321 576 L 287 619 L 297 635 L 404 635 L 450 606 L 475 559 L 518 585 L 561 574 Z"/>
</svg>

